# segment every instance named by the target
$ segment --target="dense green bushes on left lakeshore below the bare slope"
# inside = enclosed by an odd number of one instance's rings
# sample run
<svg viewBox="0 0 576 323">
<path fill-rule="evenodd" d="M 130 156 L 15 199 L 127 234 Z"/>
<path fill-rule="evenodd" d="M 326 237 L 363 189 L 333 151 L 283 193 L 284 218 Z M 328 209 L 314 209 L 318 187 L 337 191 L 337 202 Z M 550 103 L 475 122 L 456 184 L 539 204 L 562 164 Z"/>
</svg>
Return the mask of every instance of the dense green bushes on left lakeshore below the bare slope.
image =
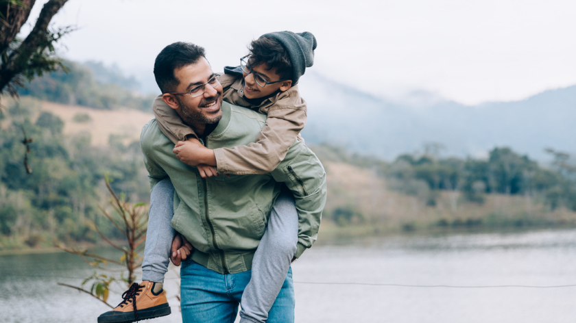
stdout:
<svg viewBox="0 0 576 323">
<path fill-rule="evenodd" d="M 147 201 L 149 190 L 138 143 L 97 148 L 89 145 L 87 135 L 65 138 L 58 116 L 42 112 L 32 122 L 27 116 L 36 114 L 34 102 L 19 104 L 31 113 L 25 117 L 9 114 L 8 125 L 0 129 L 0 236 L 13 237 L 20 246 L 54 240 L 94 242 L 91 222 L 99 213 L 107 172 L 115 178 L 112 187 L 117 192 Z M 34 138 L 29 153 L 32 174 L 23 166 L 22 126 Z M 104 224 L 101 230 L 112 238 L 121 237 L 112 224 Z M 8 248 L 1 241 L 0 249 Z"/>
</svg>

